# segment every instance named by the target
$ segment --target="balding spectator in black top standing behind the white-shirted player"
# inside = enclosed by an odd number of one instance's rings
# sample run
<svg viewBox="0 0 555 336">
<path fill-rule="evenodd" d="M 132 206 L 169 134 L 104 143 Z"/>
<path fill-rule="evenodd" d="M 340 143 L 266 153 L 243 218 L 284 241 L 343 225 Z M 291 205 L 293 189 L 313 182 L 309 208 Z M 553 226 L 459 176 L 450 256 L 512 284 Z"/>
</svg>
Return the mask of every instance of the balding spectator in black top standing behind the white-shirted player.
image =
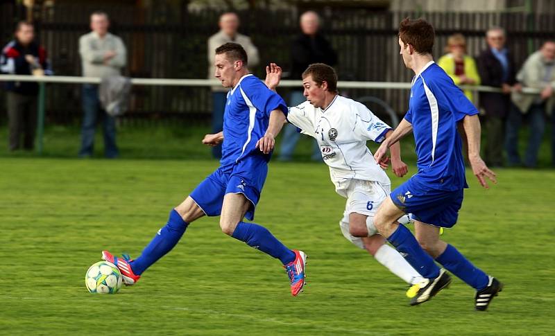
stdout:
<svg viewBox="0 0 555 336">
<path fill-rule="evenodd" d="M 291 76 L 293 80 L 300 80 L 302 72 L 310 64 L 323 63 L 330 67 L 337 64 L 337 54 L 330 42 L 320 33 L 320 17 L 316 12 L 309 10 L 300 16 L 300 35 L 291 42 Z M 291 91 L 289 105 L 296 106 L 306 100 L 302 90 Z M 291 161 L 293 152 L 300 138 L 296 127 L 285 125 L 280 146 L 280 161 Z M 314 150 L 311 155 L 313 161 L 320 161 L 322 155 L 318 143 L 314 141 Z"/>
</svg>

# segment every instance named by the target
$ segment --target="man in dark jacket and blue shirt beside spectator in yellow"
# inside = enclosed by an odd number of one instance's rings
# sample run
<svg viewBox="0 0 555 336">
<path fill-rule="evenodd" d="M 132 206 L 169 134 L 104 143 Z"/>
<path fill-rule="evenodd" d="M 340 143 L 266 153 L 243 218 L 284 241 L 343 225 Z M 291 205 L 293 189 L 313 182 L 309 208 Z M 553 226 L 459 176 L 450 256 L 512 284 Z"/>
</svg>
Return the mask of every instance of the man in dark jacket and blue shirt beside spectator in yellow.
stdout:
<svg viewBox="0 0 555 336">
<path fill-rule="evenodd" d="M 480 92 L 479 105 L 484 110 L 486 129 L 486 150 L 484 159 L 490 167 L 503 165 L 504 121 L 515 109 L 511 104 L 511 89 L 515 85 L 515 61 L 505 46 L 505 30 L 490 28 L 486 33 L 488 48 L 478 57 L 478 73 L 481 84 L 499 87 L 502 93 Z M 511 159 L 509 158 L 509 164 Z"/>
</svg>

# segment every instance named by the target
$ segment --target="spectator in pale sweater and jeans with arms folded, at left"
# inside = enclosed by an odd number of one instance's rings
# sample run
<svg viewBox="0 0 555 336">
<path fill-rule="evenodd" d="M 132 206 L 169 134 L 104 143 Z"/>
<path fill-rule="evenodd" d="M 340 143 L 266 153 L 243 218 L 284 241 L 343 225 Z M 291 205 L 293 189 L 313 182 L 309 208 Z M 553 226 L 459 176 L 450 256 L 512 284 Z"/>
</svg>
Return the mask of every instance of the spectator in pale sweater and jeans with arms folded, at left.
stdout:
<svg viewBox="0 0 555 336">
<path fill-rule="evenodd" d="M 121 39 L 108 33 L 110 21 L 105 12 L 93 12 L 90 17 L 92 32 L 79 39 L 79 54 L 83 66 L 83 76 L 108 78 L 120 76 L 126 66 L 126 46 Z M 116 119 L 101 107 L 99 86 L 83 85 L 83 130 L 79 157 L 91 157 L 94 150 L 94 129 L 102 119 L 105 157 L 119 156 L 116 145 Z"/>
</svg>

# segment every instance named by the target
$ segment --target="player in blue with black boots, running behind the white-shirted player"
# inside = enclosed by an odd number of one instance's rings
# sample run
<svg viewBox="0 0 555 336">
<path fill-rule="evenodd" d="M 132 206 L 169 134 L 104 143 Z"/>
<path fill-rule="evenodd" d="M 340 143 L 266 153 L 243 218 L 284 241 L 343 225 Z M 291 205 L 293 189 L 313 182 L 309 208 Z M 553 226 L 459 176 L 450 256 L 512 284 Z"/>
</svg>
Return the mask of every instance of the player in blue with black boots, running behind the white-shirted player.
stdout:
<svg viewBox="0 0 555 336">
<path fill-rule="evenodd" d="M 379 207 L 374 224 L 425 280 L 411 305 L 431 299 L 451 282 L 449 270 L 477 291 L 476 310 L 486 310 L 502 284 L 475 267 L 452 245 L 439 239 L 442 227 L 450 228 L 468 188 L 461 150 L 460 123 L 468 141 L 468 159 L 482 186 L 485 177 L 495 182 L 479 155 L 480 123 L 478 111 L 432 59 L 434 28 L 423 19 L 404 19 L 399 28 L 400 54 L 407 68 L 414 71 L 409 111 L 375 152 L 377 162 L 402 136 L 413 132 L 418 156 L 418 173 L 396 188 Z M 398 224 L 404 213 L 412 213 L 415 236 Z M 426 253 L 427 252 L 427 253 Z M 437 261 L 445 269 L 434 263 Z"/>
</svg>

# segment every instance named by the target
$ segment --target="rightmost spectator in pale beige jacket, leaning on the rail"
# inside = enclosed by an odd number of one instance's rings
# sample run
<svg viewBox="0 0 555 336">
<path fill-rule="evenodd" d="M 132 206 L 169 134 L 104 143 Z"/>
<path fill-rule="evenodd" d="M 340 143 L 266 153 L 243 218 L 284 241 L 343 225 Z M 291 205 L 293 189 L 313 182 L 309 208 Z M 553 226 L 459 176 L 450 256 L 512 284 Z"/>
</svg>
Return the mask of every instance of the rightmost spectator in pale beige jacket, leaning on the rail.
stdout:
<svg viewBox="0 0 555 336">
<path fill-rule="evenodd" d="M 513 102 L 520 111 L 509 115 L 507 122 L 506 146 L 509 159 L 513 163 L 520 162 L 518 154 L 518 130 L 523 114 L 528 114 L 530 136 L 528 148 L 524 156 L 524 166 L 535 168 L 538 165 L 538 151 L 545 130 L 545 117 L 551 114 L 554 103 L 555 88 L 555 41 L 547 41 L 539 51 L 530 55 L 522 69 L 518 72 L 517 80 L 524 87 L 540 89 L 540 94 L 522 94 L 518 90 L 513 93 Z"/>
</svg>

